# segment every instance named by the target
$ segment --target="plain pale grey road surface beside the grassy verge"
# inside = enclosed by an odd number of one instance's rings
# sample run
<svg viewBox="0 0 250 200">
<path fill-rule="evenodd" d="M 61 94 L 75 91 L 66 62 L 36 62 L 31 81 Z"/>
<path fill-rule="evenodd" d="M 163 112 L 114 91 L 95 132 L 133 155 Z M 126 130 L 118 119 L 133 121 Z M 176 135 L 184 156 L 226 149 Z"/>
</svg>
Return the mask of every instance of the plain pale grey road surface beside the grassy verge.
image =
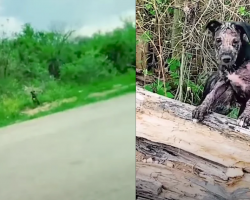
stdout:
<svg viewBox="0 0 250 200">
<path fill-rule="evenodd" d="M 134 149 L 135 94 L 2 128 L 0 199 L 135 199 Z"/>
</svg>

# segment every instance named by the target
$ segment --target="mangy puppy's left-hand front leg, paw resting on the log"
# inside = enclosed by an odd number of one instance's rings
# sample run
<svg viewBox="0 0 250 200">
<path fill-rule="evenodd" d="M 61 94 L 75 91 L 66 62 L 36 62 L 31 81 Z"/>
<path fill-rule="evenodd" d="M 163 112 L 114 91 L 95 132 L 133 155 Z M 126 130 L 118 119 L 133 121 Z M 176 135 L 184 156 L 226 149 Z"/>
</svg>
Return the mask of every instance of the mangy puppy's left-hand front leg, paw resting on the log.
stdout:
<svg viewBox="0 0 250 200">
<path fill-rule="evenodd" d="M 214 86 L 214 88 L 209 92 L 201 103 L 192 112 L 192 118 L 202 121 L 205 115 L 209 112 L 210 108 L 216 102 L 216 100 L 227 90 L 228 83 L 224 79 L 220 79 Z"/>
</svg>

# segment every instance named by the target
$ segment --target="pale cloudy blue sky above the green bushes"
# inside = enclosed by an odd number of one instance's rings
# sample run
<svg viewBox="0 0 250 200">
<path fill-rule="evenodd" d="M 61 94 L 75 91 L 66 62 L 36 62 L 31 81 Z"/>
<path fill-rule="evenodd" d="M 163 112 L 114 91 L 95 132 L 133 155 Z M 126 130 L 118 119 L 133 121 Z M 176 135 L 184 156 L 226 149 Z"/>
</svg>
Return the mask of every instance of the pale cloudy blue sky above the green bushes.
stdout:
<svg viewBox="0 0 250 200">
<path fill-rule="evenodd" d="M 124 17 L 135 21 L 135 0 L 0 0 L 0 25 L 8 32 L 31 23 L 37 29 L 67 27 L 91 35 L 121 26 Z"/>
</svg>

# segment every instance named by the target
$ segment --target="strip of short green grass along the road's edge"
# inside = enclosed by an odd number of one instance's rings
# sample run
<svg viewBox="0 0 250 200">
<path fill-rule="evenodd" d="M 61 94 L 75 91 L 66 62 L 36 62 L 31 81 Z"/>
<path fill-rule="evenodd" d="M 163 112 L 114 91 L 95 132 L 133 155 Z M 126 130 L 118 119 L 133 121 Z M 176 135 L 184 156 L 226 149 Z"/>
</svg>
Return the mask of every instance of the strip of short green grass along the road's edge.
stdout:
<svg viewBox="0 0 250 200">
<path fill-rule="evenodd" d="M 109 81 L 99 83 L 96 82 L 92 85 L 88 85 L 86 88 L 82 88 L 81 86 L 76 86 L 69 90 L 68 93 L 65 93 L 64 98 L 75 97 L 76 100 L 73 102 L 66 102 L 62 103 L 59 106 L 51 108 L 49 110 L 45 110 L 43 112 L 39 112 L 35 115 L 27 115 L 23 114 L 21 111 L 17 114 L 12 116 L 11 118 L 5 117 L 1 118 L 0 127 L 7 126 L 13 123 L 22 122 L 25 120 L 34 119 L 37 117 L 45 116 L 48 114 L 64 111 L 70 108 L 75 108 L 82 105 L 87 105 L 90 103 L 95 103 L 100 100 L 110 99 L 112 97 L 117 97 L 119 95 L 123 95 L 126 93 L 135 92 L 135 74 L 126 74 L 124 76 L 115 77 Z M 114 87 L 117 84 L 121 85 L 117 89 Z M 110 91 L 110 93 L 108 92 Z M 89 96 L 94 93 L 104 93 L 107 92 L 105 95 L 100 96 Z M 30 102 L 31 103 L 31 102 Z M 46 102 L 47 103 L 47 102 Z"/>
</svg>

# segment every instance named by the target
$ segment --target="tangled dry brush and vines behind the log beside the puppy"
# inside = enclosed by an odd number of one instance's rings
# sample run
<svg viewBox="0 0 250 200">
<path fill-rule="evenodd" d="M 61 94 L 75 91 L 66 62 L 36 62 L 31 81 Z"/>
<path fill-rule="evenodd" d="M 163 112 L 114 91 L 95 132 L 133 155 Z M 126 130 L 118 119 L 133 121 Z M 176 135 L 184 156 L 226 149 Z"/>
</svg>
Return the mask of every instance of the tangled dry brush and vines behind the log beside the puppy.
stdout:
<svg viewBox="0 0 250 200">
<path fill-rule="evenodd" d="M 147 68 L 155 69 L 164 87 L 171 85 L 176 99 L 196 104 L 206 76 L 217 66 L 205 25 L 212 19 L 249 22 L 248 10 L 248 0 L 137 0 L 136 25 L 143 32 L 140 40 L 148 43 Z M 169 59 L 180 61 L 174 72 Z"/>
</svg>

